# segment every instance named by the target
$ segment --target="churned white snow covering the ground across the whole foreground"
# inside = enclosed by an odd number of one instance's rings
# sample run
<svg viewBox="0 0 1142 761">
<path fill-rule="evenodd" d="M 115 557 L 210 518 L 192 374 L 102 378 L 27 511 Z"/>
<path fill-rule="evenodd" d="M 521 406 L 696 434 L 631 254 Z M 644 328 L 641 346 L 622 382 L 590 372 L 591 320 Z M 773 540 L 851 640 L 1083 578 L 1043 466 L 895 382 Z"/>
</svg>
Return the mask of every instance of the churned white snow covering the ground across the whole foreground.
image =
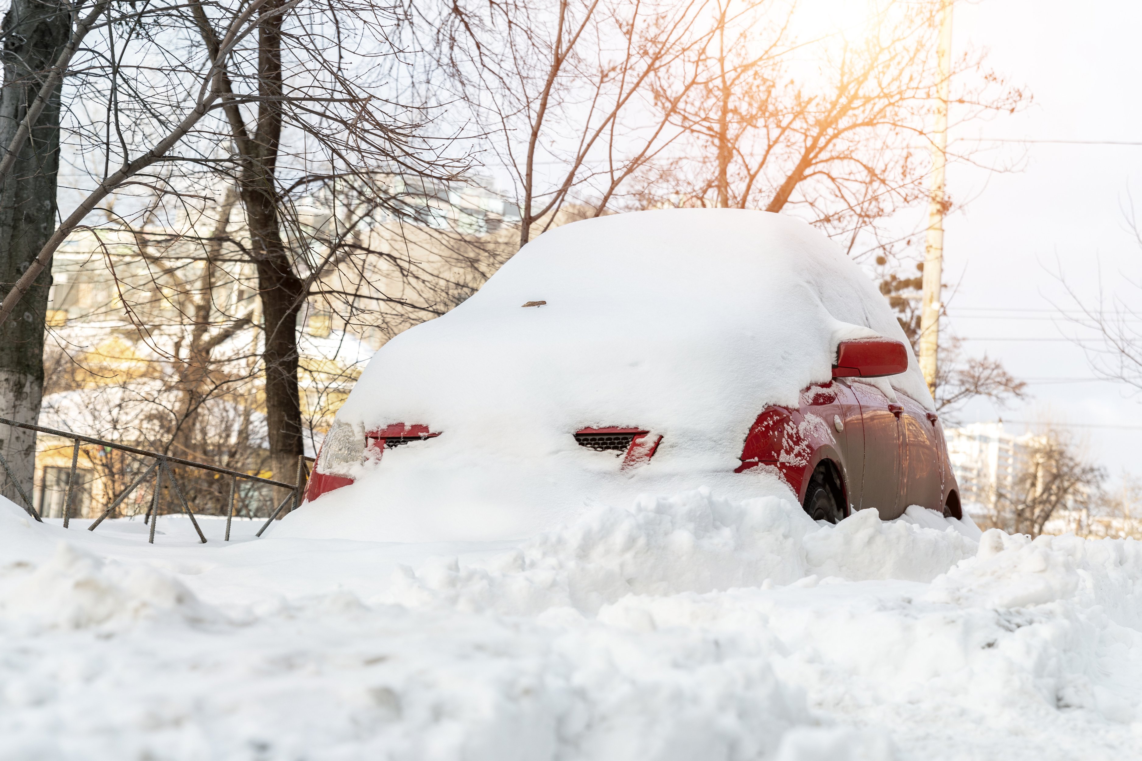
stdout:
<svg viewBox="0 0 1142 761">
<path fill-rule="evenodd" d="M 0 505 L 0 758 L 1142 754 L 1142 544 L 699 490 L 517 543 Z"/>
</svg>

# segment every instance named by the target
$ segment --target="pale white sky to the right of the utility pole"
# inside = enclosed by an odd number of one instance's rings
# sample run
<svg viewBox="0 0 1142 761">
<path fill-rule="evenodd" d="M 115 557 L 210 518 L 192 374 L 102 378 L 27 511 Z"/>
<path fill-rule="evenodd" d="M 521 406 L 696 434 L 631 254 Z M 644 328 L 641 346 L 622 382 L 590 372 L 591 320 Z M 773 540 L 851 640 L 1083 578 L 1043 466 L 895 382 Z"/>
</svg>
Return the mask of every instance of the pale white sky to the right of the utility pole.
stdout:
<svg viewBox="0 0 1142 761">
<path fill-rule="evenodd" d="M 958 136 L 1142 142 L 1139 29 L 1142 3 L 957 3 L 955 48 L 986 47 L 994 66 L 1035 97 L 1023 113 Z M 950 327 L 970 339 L 967 352 L 1000 358 L 1032 382 L 1034 398 L 1006 410 L 978 403 L 967 417 L 1069 423 L 1112 473 L 1126 468 L 1142 475 L 1142 398 L 1115 383 L 1070 380 L 1094 375 L 1083 350 L 1059 341 L 1075 330 L 1051 319 L 1056 305 L 1068 305 L 1052 271 L 1061 270 L 1068 285 L 1094 299 L 1100 265 L 1108 293 L 1142 312 L 1142 288 L 1127 282 L 1142 283 L 1142 250 L 1123 211 L 1129 190 L 1142 217 L 1142 145 L 1035 143 L 1011 151 L 1026 152 L 1020 173 L 949 170 L 949 191 L 972 200 L 947 221 L 944 279 L 959 283 Z"/>
</svg>

